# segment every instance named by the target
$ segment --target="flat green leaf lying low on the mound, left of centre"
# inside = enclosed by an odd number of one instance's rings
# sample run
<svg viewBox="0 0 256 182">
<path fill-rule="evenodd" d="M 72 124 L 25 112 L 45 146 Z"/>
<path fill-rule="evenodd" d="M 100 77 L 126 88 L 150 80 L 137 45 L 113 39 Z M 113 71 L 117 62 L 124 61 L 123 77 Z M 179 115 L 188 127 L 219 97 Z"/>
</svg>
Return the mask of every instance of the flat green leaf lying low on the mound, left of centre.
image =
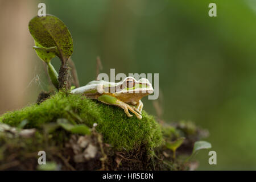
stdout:
<svg viewBox="0 0 256 182">
<path fill-rule="evenodd" d="M 67 119 L 57 119 L 57 123 L 63 127 L 63 129 L 70 131 L 73 134 L 89 135 L 90 129 L 84 124 L 72 125 Z"/>
</svg>

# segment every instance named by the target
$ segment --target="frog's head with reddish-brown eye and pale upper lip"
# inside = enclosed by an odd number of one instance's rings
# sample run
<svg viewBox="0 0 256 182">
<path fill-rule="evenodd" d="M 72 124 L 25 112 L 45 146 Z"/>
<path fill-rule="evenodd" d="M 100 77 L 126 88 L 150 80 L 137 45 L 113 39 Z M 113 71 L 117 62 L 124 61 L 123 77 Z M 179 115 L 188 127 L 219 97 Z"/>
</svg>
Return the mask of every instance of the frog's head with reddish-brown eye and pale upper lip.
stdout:
<svg viewBox="0 0 256 182">
<path fill-rule="evenodd" d="M 115 86 L 115 95 L 124 102 L 137 102 L 153 92 L 154 89 L 147 78 L 137 81 L 134 77 L 126 77 Z"/>
</svg>

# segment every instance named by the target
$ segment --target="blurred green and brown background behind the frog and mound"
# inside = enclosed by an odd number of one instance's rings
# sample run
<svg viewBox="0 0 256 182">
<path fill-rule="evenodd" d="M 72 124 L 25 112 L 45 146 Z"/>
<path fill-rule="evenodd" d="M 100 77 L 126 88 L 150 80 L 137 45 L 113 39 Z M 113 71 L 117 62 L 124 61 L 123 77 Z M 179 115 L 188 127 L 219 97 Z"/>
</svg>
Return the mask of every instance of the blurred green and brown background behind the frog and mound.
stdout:
<svg viewBox="0 0 256 182">
<path fill-rule="evenodd" d="M 96 77 L 97 56 L 104 73 L 159 73 L 162 119 L 210 132 L 217 165 L 201 151 L 199 169 L 256 169 L 256 1 L 0 0 L 0 113 L 51 89 L 27 27 L 39 2 L 71 31 L 81 85 Z"/>
</svg>

